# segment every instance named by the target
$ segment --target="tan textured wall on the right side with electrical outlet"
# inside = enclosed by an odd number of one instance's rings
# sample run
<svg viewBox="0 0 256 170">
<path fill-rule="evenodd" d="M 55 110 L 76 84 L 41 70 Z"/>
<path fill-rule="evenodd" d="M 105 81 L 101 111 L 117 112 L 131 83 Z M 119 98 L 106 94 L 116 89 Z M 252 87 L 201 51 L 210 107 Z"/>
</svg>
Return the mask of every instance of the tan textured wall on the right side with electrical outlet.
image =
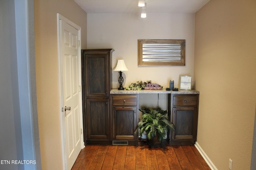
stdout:
<svg viewBox="0 0 256 170">
<path fill-rule="evenodd" d="M 211 0 L 196 13 L 198 144 L 219 169 L 250 169 L 256 103 L 256 1 Z"/>
</svg>

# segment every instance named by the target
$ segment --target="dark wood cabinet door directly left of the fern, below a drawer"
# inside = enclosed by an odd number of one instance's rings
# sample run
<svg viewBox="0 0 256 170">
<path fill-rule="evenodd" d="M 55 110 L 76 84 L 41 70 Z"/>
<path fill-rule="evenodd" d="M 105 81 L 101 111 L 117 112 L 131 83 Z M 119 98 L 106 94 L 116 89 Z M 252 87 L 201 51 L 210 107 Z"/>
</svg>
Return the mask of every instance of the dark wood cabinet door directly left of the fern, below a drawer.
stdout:
<svg viewBox="0 0 256 170">
<path fill-rule="evenodd" d="M 138 123 L 137 107 L 113 107 L 113 138 L 138 139 L 134 135 Z"/>
</svg>

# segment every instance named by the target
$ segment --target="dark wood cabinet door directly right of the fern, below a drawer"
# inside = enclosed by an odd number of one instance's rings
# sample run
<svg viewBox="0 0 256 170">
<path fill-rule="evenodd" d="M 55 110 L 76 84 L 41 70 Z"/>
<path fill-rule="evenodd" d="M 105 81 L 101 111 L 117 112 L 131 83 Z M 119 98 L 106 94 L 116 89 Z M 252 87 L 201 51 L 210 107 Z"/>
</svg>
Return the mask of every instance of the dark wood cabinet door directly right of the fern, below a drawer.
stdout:
<svg viewBox="0 0 256 170">
<path fill-rule="evenodd" d="M 173 107 L 172 121 L 176 129 L 171 140 L 196 141 L 197 119 L 196 107 Z"/>
</svg>

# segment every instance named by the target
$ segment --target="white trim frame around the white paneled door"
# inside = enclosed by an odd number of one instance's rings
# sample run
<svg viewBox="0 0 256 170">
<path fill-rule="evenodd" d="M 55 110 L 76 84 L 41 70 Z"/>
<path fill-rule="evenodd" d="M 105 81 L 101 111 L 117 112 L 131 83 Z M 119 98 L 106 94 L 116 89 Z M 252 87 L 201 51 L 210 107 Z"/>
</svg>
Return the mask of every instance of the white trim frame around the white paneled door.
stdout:
<svg viewBox="0 0 256 170">
<path fill-rule="evenodd" d="M 65 138 L 64 138 L 64 113 L 62 112 L 62 107 L 64 107 L 63 102 L 63 84 L 62 84 L 62 60 L 61 60 L 61 42 L 60 42 L 60 20 L 65 21 L 66 23 L 72 25 L 74 28 L 78 30 L 78 41 L 81 42 L 81 27 L 73 23 L 72 21 L 68 20 L 67 18 L 63 17 L 60 14 L 57 14 L 57 32 L 58 32 L 58 91 L 59 91 L 59 113 L 60 113 L 60 135 L 61 135 L 61 145 L 62 145 L 62 165 L 63 169 L 67 169 L 67 160 L 66 160 L 66 150 L 65 150 Z M 81 43 L 79 46 L 79 53 L 78 55 L 81 56 Z M 82 75 L 81 75 L 81 57 L 78 57 L 78 68 L 79 68 L 79 80 L 78 84 L 81 87 L 80 92 L 80 128 L 82 129 L 81 134 L 81 149 L 84 148 L 84 132 L 83 132 L 83 117 L 82 117 Z"/>
</svg>

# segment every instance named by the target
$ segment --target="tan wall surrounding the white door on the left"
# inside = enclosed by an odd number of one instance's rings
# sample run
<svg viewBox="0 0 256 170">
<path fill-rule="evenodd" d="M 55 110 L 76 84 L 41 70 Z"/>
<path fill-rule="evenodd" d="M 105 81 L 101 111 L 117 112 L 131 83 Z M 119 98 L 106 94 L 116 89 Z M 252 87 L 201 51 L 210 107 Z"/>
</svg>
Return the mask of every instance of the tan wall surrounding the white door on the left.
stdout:
<svg viewBox="0 0 256 170">
<path fill-rule="evenodd" d="M 34 0 L 36 84 L 42 169 L 62 169 L 58 94 L 57 13 L 82 29 L 86 48 L 87 14 L 73 0 Z"/>
</svg>

